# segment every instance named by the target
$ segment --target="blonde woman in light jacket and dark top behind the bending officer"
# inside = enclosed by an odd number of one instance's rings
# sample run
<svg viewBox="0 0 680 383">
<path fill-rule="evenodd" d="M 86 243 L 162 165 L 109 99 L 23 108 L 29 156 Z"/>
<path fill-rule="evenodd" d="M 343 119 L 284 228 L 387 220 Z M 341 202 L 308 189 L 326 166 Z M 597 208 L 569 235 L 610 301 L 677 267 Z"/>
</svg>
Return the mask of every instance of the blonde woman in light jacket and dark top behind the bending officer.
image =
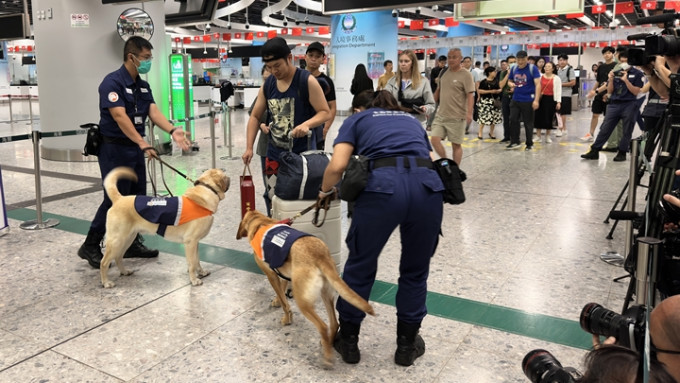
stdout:
<svg viewBox="0 0 680 383">
<path fill-rule="evenodd" d="M 418 58 L 411 50 L 399 54 L 399 70 L 385 86 L 404 111 L 416 115 L 420 122 L 434 112 L 434 96 L 429 81 L 420 75 Z"/>
</svg>

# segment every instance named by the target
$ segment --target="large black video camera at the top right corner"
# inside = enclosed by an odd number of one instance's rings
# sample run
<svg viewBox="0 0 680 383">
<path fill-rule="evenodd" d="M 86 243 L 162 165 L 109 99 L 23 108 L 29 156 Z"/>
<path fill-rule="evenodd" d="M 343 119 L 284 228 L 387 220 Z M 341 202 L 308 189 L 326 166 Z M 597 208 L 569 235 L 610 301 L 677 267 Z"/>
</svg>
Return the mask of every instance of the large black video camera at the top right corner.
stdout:
<svg viewBox="0 0 680 383">
<path fill-rule="evenodd" d="M 654 62 L 658 55 L 677 56 L 680 54 L 680 30 L 674 28 L 675 20 L 678 18 L 680 18 L 680 13 L 664 13 L 638 19 L 637 25 L 663 23 L 664 29 L 659 34 L 642 33 L 628 36 L 629 41 L 645 41 L 644 49 L 628 50 L 628 63 L 638 66 L 647 65 Z"/>
</svg>

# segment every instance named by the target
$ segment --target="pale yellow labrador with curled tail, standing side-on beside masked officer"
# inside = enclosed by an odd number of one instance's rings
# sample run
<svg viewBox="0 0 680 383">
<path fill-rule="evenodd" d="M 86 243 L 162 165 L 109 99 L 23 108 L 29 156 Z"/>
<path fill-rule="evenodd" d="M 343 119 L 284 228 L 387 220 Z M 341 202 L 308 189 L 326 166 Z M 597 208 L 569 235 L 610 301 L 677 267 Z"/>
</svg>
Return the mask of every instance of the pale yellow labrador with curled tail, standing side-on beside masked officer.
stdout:
<svg viewBox="0 0 680 383">
<path fill-rule="evenodd" d="M 219 169 L 206 170 L 183 196 L 174 198 L 123 196 L 116 186 L 121 178 L 136 181 L 137 175 L 130 168 L 119 167 L 104 179 L 113 206 L 106 216 L 106 250 L 99 267 L 102 285 L 115 286 L 107 275 L 111 261 L 116 262 L 121 275 L 132 274 L 123 265 L 123 255 L 138 233 L 158 233 L 183 243 L 191 284 L 203 284 L 199 278 L 210 272 L 201 267 L 198 241 L 210 232 L 217 204 L 229 190 L 229 177 Z"/>
</svg>

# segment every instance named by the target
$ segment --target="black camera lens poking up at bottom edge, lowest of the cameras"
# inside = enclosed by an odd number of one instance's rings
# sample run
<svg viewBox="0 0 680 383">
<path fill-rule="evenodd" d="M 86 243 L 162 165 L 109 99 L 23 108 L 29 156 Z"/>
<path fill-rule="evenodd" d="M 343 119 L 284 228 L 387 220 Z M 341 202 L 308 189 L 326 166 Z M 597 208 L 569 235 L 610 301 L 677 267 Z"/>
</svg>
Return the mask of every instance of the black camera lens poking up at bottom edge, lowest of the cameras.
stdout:
<svg viewBox="0 0 680 383">
<path fill-rule="evenodd" d="M 532 383 L 576 383 L 583 376 L 562 364 L 546 350 L 533 350 L 522 360 L 522 371 Z"/>
</svg>

